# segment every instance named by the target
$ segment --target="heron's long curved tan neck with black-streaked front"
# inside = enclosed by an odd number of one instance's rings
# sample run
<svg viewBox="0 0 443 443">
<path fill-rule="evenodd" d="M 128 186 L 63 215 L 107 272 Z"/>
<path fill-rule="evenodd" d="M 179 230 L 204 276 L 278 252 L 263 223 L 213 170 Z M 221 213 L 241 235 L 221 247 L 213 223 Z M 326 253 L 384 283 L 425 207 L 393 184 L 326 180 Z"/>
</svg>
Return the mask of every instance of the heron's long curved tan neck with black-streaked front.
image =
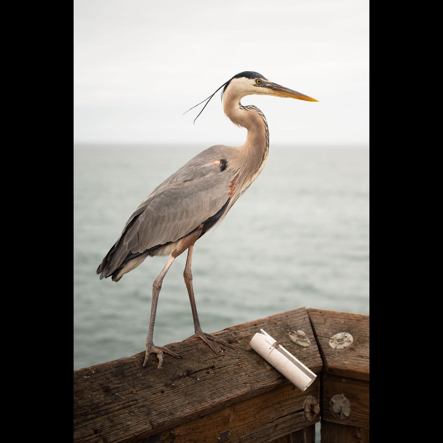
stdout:
<svg viewBox="0 0 443 443">
<path fill-rule="evenodd" d="M 242 175 L 253 177 L 255 180 L 255 174 L 260 173 L 268 157 L 268 123 L 264 114 L 256 106 L 241 105 L 241 97 L 242 95 L 236 93 L 235 90 L 227 90 L 223 95 L 223 110 L 233 124 L 248 130 L 245 143 L 238 149 L 237 160 L 239 163 L 241 162 L 241 165 L 235 166 L 245 173 Z"/>
</svg>

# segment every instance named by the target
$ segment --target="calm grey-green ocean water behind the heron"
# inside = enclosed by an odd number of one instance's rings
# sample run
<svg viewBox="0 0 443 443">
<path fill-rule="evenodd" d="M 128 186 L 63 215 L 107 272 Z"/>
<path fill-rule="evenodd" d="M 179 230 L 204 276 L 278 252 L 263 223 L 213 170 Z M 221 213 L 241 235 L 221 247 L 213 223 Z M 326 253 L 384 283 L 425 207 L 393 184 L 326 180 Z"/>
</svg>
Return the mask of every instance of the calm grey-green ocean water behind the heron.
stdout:
<svg viewBox="0 0 443 443">
<path fill-rule="evenodd" d="M 144 350 L 148 257 L 118 283 L 96 269 L 142 200 L 207 146 L 74 147 L 74 369 Z M 159 296 L 154 342 L 194 333 L 179 256 Z M 258 179 L 192 261 L 205 332 L 297 307 L 369 314 L 369 148 L 271 144 Z"/>
</svg>

